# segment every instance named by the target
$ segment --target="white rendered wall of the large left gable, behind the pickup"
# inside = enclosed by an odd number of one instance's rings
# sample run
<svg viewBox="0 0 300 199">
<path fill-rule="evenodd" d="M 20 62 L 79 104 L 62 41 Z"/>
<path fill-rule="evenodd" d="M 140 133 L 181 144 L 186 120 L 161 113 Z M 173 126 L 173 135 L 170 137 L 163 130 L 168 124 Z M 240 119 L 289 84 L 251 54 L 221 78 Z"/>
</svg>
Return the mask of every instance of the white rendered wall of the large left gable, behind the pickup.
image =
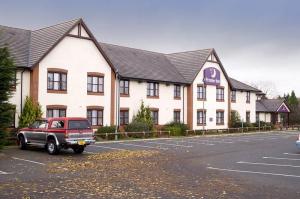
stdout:
<svg viewBox="0 0 300 199">
<path fill-rule="evenodd" d="M 47 93 L 47 68 L 68 70 L 67 94 Z M 87 95 L 88 72 L 105 75 L 104 96 Z M 44 117 L 47 105 L 66 105 L 68 117 L 86 117 L 87 106 L 103 106 L 103 125 L 110 125 L 111 68 L 92 41 L 66 37 L 40 62 L 38 101 Z"/>
</svg>

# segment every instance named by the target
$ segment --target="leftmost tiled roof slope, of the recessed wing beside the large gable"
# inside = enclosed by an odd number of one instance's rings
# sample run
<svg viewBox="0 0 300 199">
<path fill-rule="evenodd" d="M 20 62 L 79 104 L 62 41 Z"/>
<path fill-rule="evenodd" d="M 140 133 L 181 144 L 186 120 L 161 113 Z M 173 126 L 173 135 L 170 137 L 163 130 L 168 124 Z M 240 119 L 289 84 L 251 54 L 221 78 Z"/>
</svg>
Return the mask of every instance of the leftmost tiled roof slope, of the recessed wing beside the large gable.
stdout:
<svg viewBox="0 0 300 199">
<path fill-rule="evenodd" d="M 0 47 L 8 47 L 16 66 L 27 66 L 30 33 L 30 30 L 0 25 Z"/>
</svg>

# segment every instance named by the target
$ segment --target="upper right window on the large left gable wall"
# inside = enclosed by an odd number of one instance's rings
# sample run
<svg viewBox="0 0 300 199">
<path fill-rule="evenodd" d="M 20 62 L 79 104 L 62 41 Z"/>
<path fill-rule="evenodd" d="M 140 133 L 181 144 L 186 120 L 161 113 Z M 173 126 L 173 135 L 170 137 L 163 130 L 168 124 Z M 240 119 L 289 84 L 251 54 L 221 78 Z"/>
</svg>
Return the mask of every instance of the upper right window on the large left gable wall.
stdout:
<svg viewBox="0 0 300 199">
<path fill-rule="evenodd" d="M 97 74 L 88 74 L 87 91 L 91 93 L 103 93 L 104 77 Z"/>
</svg>

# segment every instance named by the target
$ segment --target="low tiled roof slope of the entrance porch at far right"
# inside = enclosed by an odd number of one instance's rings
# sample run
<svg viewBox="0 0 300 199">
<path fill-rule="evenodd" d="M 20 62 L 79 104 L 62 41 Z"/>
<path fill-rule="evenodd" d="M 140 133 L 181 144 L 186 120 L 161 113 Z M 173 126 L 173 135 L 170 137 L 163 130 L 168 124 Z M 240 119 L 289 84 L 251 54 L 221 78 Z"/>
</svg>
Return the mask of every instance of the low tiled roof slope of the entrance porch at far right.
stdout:
<svg viewBox="0 0 300 199">
<path fill-rule="evenodd" d="M 276 112 L 280 105 L 284 103 L 283 99 L 261 99 L 256 101 L 257 112 Z"/>
</svg>

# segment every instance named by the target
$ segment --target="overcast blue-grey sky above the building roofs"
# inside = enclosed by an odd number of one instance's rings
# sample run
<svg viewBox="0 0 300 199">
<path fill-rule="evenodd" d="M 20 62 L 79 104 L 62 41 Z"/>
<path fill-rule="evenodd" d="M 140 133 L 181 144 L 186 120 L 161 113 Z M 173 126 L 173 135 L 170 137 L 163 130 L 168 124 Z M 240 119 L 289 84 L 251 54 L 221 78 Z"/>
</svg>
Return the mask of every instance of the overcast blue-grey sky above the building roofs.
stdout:
<svg viewBox="0 0 300 199">
<path fill-rule="evenodd" d="M 82 17 L 99 41 L 163 53 L 215 48 L 229 76 L 300 96 L 300 1 L 0 0 L 0 24 Z"/>
</svg>

